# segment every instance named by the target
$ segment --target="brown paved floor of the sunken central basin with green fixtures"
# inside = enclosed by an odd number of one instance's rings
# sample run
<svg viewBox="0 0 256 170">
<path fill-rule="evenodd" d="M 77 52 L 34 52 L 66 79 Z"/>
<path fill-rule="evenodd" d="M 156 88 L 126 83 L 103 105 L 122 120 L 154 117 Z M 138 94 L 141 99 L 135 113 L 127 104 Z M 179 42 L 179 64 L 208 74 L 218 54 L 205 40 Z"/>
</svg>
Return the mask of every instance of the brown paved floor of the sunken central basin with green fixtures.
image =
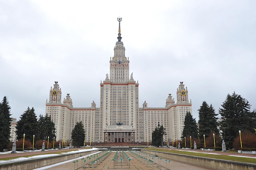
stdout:
<svg viewBox="0 0 256 170">
<path fill-rule="evenodd" d="M 121 152 L 117 152 L 117 157 L 115 161 L 112 159 L 115 157 L 116 152 L 110 152 L 104 160 L 100 160 L 99 162 L 95 162 L 94 164 L 83 164 L 83 160 L 81 158 L 77 159 L 78 162 L 74 163 L 74 161 L 70 161 L 58 166 L 51 166 L 50 168 L 46 168 L 45 170 L 121 170 L 121 169 L 131 169 L 131 170 L 210 170 L 206 168 L 202 168 L 199 166 L 193 166 L 186 163 L 180 163 L 177 161 L 165 161 L 165 159 L 158 159 L 155 157 L 153 162 L 148 161 L 149 157 L 139 157 L 131 152 L 124 152 L 129 158 L 131 158 L 130 162 L 125 155 L 122 155 L 122 162 L 120 154 Z M 145 159 L 146 158 L 146 159 Z M 150 157 L 150 159 L 152 159 Z M 86 158 L 85 158 L 86 160 Z"/>
</svg>

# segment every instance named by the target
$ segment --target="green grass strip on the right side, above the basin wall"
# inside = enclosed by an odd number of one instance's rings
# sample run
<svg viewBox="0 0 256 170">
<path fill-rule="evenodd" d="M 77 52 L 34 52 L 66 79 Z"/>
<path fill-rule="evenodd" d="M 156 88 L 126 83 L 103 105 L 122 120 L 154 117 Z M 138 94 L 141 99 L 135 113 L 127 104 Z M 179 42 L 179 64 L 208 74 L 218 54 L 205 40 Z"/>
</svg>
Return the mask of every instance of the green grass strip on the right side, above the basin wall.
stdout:
<svg viewBox="0 0 256 170">
<path fill-rule="evenodd" d="M 255 158 L 232 157 L 232 156 L 226 156 L 226 155 L 212 155 L 212 154 L 207 154 L 207 153 L 186 152 L 186 151 L 180 151 L 180 150 L 167 150 L 167 149 L 161 149 L 161 148 L 146 148 L 145 150 L 171 152 L 171 153 L 177 153 L 177 154 L 182 154 L 182 155 L 192 155 L 192 156 L 197 156 L 197 157 L 224 159 L 224 160 L 229 160 L 229 161 L 238 161 L 238 162 L 246 162 L 246 163 L 256 163 Z M 232 154 L 232 153 L 234 153 L 234 152 L 231 151 L 230 154 Z"/>
</svg>

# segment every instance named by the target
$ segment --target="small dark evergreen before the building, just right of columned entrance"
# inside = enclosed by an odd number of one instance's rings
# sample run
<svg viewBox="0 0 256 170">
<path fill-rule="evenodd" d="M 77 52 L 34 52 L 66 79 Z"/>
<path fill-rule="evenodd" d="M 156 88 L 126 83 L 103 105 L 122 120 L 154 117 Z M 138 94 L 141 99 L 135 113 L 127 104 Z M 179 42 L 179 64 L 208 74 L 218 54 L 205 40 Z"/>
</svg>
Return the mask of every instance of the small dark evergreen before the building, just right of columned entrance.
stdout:
<svg viewBox="0 0 256 170">
<path fill-rule="evenodd" d="M 166 135 L 166 128 L 163 125 L 160 126 L 158 122 L 158 127 L 152 132 L 152 145 L 163 147 L 163 137 Z"/>
</svg>

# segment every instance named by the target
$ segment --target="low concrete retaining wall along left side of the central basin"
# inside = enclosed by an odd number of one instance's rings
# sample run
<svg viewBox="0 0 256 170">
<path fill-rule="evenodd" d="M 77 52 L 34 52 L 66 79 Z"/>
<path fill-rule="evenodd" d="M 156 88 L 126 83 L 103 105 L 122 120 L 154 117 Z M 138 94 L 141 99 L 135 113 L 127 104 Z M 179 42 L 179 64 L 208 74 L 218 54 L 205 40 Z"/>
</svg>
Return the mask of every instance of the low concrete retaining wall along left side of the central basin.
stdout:
<svg viewBox="0 0 256 170">
<path fill-rule="evenodd" d="M 4 163 L 0 165 L 0 170 L 32 170 L 35 168 L 41 168 L 44 166 L 49 166 L 55 163 L 60 163 L 63 161 L 68 161 L 70 159 L 76 159 L 85 155 L 89 155 L 99 150 L 85 151 L 79 153 L 67 153 L 52 157 L 29 159 L 26 161 L 17 161 L 11 163 Z M 64 152 L 64 151 L 63 151 Z"/>
</svg>

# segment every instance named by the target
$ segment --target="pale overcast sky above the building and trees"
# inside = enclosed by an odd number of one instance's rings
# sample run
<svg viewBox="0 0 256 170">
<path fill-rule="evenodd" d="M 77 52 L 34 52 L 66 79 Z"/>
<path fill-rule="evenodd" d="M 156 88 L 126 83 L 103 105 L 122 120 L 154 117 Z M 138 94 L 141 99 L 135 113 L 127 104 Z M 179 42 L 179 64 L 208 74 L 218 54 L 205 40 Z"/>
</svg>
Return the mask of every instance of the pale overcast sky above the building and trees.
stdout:
<svg viewBox="0 0 256 170">
<path fill-rule="evenodd" d="M 218 113 L 227 94 L 256 109 L 255 0 L 0 0 L 0 99 L 12 117 L 34 107 L 45 115 L 58 81 L 62 101 L 99 107 L 100 82 L 110 72 L 120 16 L 139 106 L 165 107 L 180 82 L 193 117 L 203 101 Z"/>
</svg>

